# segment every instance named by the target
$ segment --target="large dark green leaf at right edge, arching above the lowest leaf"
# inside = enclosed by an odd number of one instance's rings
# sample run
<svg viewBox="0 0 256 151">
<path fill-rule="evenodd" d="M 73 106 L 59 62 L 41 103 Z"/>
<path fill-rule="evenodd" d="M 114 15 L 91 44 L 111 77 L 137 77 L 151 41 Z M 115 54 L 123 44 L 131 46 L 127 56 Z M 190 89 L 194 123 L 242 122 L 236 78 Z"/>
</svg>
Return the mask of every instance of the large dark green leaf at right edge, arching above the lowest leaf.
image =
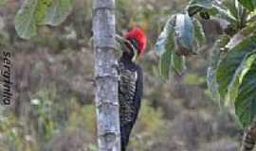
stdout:
<svg viewBox="0 0 256 151">
<path fill-rule="evenodd" d="M 252 53 L 254 49 L 256 49 L 256 36 L 248 37 L 230 49 L 227 57 L 220 62 L 216 77 L 221 98 L 225 99 L 237 68 L 243 63 L 247 54 Z"/>
</svg>

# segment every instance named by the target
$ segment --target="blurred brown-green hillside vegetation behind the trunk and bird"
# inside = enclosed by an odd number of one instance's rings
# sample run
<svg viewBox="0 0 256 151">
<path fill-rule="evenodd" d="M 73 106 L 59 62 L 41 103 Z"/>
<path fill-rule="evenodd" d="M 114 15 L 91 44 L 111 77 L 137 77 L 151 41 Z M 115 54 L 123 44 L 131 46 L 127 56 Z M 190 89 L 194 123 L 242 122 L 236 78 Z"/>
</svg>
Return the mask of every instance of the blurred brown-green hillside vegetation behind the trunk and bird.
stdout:
<svg viewBox="0 0 256 151">
<path fill-rule="evenodd" d="M 21 0 L 0 8 L 0 51 L 12 56 L 12 104 L 0 106 L 0 151 L 96 151 L 94 59 L 90 0 L 77 0 L 63 25 L 43 26 L 30 41 L 19 39 L 14 18 Z M 144 97 L 128 151 L 234 151 L 242 130 L 211 99 L 206 73 L 212 42 L 222 32 L 202 21 L 208 45 L 187 62 L 183 76 L 162 81 L 154 44 L 172 13 L 187 0 L 117 0 L 117 32 L 140 25 L 148 52 Z M 1 53 L 2 54 L 2 53 Z"/>
</svg>

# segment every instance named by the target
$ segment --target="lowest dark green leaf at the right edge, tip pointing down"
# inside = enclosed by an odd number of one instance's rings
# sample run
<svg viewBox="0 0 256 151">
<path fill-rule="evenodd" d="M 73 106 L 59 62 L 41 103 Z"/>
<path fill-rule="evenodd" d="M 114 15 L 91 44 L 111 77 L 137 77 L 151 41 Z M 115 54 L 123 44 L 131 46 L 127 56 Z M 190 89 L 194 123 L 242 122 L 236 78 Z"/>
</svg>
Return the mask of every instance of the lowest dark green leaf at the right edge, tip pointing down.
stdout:
<svg viewBox="0 0 256 151">
<path fill-rule="evenodd" d="M 235 100 L 235 112 L 244 127 L 250 126 L 256 115 L 256 61 L 243 78 Z"/>
</svg>

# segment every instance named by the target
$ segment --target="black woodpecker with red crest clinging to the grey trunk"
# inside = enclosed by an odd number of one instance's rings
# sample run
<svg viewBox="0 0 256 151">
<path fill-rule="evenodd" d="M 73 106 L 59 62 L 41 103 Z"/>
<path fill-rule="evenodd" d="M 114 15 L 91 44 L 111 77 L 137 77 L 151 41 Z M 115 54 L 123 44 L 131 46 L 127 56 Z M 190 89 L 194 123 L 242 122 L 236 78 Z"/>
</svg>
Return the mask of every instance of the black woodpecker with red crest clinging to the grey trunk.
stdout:
<svg viewBox="0 0 256 151">
<path fill-rule="evenodd" d="M 134 62 L 145 53 L 147 38 L 138 27 L 124 35 L 126 49 L 119 59 L 119 120 L 121 151 L 126 150 L 133 126 L 137 120 L 143 94 L 143 74 L 141 67 Z M 132 45 L 130 45 L 132 44 Z M 137 50 L 137 53 L 134 51 Z"/>
</svg>

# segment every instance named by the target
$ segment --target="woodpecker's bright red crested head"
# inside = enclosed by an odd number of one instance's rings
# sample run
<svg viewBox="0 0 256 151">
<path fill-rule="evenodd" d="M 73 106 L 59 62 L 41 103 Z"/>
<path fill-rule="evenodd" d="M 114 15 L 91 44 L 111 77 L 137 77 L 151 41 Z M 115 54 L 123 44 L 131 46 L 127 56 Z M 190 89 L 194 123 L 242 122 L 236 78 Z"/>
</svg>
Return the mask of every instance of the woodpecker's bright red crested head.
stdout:
<svg viewBox="0 0 256 151">
<path fill-rule="evenodd" d="M 143 55 L 147 47 L 147 37 L 143 30 L 136 27 L 124 35 L 124 38 L 130 41 L 136 48 L 139 56 Z"/>
</svg>

